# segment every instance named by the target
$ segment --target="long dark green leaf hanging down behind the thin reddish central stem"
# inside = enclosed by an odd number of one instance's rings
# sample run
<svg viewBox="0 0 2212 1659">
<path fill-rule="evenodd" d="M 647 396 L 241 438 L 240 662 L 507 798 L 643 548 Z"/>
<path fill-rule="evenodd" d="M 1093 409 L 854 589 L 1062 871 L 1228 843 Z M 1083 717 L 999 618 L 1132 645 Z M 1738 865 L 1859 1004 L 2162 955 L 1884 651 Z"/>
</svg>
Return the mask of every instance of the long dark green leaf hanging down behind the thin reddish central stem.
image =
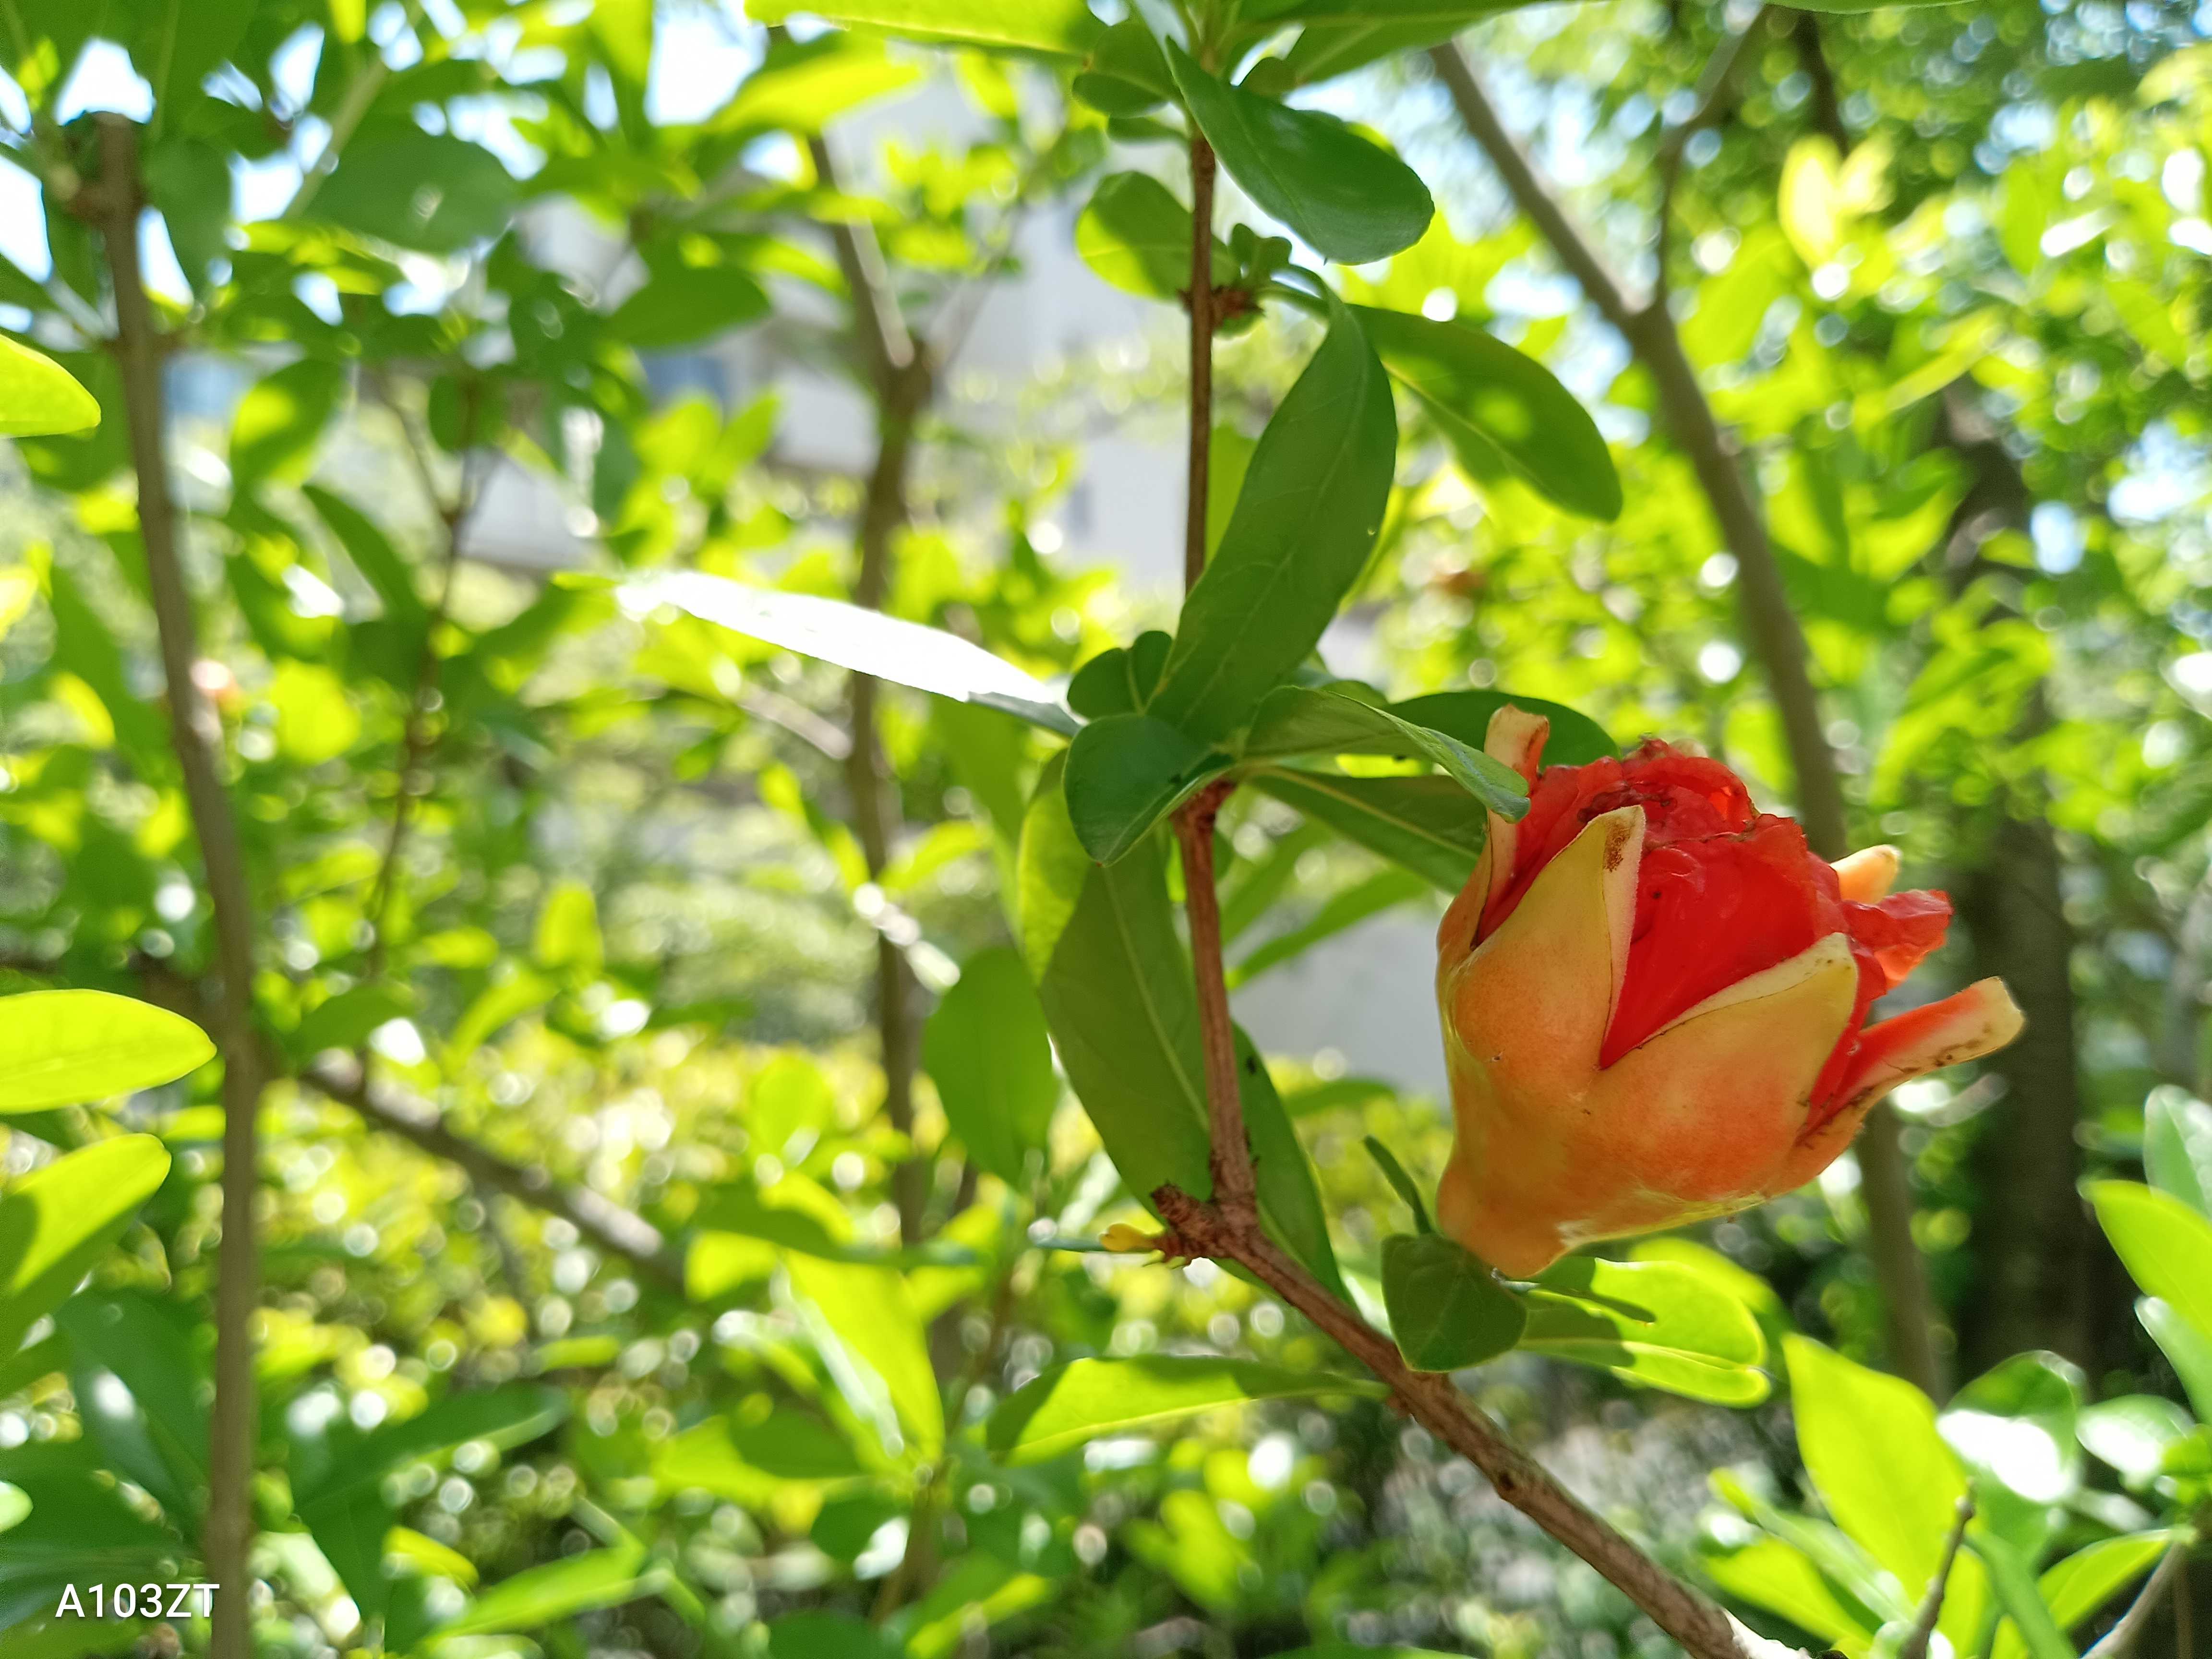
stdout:
<svg viewBox="0 0 2212 1659">
<path fill-rule="evenodd" d="M 1168 907 L 1161 838 L 1093 865 L 1068 821 L 1060 765 L 1022 825 L 1022 936 L 1068 1084 L 1139 1201 L 1175 1183 L 1212 1192 L 1199 1002 Z M 1042 962 L 1042 969 L 1040 969 Z M 1237 1075 L 1267 1232 L 1340 1290 L 1321 1190 L 1252 1044 Z"/>
</svg>

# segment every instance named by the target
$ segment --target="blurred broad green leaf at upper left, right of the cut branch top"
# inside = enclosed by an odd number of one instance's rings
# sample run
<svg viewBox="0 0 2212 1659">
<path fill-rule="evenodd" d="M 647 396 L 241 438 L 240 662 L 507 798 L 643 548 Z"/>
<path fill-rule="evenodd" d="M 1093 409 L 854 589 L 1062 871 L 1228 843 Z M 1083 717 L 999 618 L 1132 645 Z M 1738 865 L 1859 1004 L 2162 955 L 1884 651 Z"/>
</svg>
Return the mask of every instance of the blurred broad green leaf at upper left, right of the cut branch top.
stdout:
<svg viewBox="0 0 2212 1659">
<path fill-rule="evenodd" d="M 356 137 L 312 217 L 363 237 L 451 254 L 507 230 L 520 186 L 482 144 L 411 126 Z"/>
</svg>

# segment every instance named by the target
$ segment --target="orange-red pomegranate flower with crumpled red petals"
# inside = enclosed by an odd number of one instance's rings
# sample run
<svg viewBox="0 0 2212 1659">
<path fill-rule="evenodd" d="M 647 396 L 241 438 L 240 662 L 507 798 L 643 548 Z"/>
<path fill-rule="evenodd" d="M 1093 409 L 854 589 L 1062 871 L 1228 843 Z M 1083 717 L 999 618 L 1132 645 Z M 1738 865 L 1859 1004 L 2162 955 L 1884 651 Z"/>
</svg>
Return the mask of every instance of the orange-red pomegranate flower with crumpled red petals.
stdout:
<svg viewBox="0 0 2212 1659">
<path fill-rule="evenodd" d="M 1493 1267 L 1790 1192 L 1891 1088 L 2020 1033 L 2002 980 L 1867 1026 L 1951 920 L 1942 894 L 1889 894 L 1896 847 L 1829 865 L 1657 741 L 1537 770 L 1548 730 L 1491 719 L 1528 814 L 1491 816 L 1436 938 L 1458 1126 L 1438 1221 Z"/>
</svg>

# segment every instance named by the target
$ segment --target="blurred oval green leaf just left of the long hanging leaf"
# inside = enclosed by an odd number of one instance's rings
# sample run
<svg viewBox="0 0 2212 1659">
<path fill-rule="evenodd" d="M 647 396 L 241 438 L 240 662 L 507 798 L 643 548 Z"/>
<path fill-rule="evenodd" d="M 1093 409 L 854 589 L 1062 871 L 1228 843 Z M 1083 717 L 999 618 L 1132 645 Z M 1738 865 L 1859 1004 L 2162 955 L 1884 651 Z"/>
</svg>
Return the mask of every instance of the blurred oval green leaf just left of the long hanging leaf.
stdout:
<svg viewBox="0 0 2212 1659">
<path fill-rule="evenodd" d="M 1044 1004 L 1018 951 L 991 947 L 960 964 L 922 1033 L 922 1066 L 969 1157 L 1018 1192 L 1044 1152 L 1060 1104 Z"/>
</svg>

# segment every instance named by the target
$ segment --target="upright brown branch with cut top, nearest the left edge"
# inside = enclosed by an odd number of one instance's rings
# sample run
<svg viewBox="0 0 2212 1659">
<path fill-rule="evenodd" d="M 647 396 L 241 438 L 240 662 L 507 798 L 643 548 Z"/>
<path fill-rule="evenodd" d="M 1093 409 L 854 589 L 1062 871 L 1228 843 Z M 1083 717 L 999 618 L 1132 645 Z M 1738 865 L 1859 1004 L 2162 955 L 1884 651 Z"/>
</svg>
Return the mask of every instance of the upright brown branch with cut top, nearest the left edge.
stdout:
<svg viewBox="0 0 2212 1659">
<path fill-rule="evenodd" d="M 137 126 L 122 115 L 100 117 L 100 179 L 77 192 L 71 210 L 102 232 L 115 294 L 115 356 L 122 367 L 124 416 L 131 425 L 131 462 L 137 471 L 139 540 L 153 595 L 168 686 L 170 734 L 184 794 L 208 874 L 215 907 L 215 956 L 221 978 L 217 1040 L 223 1057 L 223 1237 L 215 1267 L 215 1407 L 208 1420 L 208 1515 L 201 1555 L 208 1577 L 223 1586 L 215 1597 L 210 1650 L 215 1659 L 246 1659 L 252 1604 L 248 1548 L 252 1542 L 254 1475 L 254 1352 L 252 1314 L 261 1263 L 254 1250 L 259 1194 L 257 1115 L 263 1055 L 254 1031 L 254 905 L 246 878 L 230 787 L 223 781 L 223 723 L 192 679 L 199 659 L 192 595 L 177 553 L 177 507 L 170 495 L 161 403 L 164 341 L 139 270 L 139 215 L 146 206 L 139 177 Z"/>
</svg>

